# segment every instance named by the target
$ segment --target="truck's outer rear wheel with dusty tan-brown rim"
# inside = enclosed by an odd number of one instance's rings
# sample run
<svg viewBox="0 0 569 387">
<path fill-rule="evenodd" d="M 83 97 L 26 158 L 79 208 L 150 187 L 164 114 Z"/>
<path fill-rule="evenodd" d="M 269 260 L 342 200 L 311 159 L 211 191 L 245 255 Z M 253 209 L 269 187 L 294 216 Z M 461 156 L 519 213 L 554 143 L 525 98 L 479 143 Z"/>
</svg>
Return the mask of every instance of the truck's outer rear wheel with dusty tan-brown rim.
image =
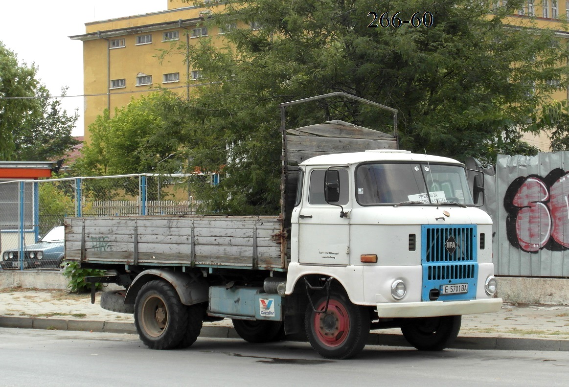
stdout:
<svg viewBox="0 0 569 387">
<path fill-rule="evenodd" d="M 170 283 L 145 283 L 134 303 L 134 325 L 150 349 L 178 347 L 188 331 L 188 307 L 180 302 Z"/>
</svg>

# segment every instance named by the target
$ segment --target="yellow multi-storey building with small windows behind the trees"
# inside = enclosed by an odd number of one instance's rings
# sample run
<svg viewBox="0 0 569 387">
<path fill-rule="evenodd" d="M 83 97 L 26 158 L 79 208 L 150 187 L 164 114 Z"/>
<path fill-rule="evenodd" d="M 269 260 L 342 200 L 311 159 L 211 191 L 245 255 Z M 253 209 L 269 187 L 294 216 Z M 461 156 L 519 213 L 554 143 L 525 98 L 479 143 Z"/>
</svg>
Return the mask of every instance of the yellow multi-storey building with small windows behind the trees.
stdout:
<svg viewBox="0 0 569 387">
<path fill-rule="evenodd" d="M 203 25 L 216 8 L 189 6 L 182 0 L 165 1 L 167 10 L 86 23 L 85 34 L 70 37 L 83 42 L 85 141 L 89 141 L 90 123 L 104 109 L 113 114 L 114 108 L 127 105 L 131 97 L 148 93 L 153 87 L 171 88 L 189 95 L 191 85 L 199 83 L 201 69 L 190 68 L 183 55 L 160 61 L 159 50 L 170 49 L 172 42 L 191 46 L 203 36 L 221 38 L 222 30 L 208 31 Z M 493 7 L 505 3 L 496 0 Z M 560 18 L 569 19 L 569 0 L 526 0 L 507 22 L 525 26 L 532 20 L 537 28 L 554 28 L 560 40 L 569 41 Z M 551 98 L 569 99 L 569 90 L 559 88 Z M 550 148 L 546 134 L 524 138 L 542 150 Z"/>
</svg>

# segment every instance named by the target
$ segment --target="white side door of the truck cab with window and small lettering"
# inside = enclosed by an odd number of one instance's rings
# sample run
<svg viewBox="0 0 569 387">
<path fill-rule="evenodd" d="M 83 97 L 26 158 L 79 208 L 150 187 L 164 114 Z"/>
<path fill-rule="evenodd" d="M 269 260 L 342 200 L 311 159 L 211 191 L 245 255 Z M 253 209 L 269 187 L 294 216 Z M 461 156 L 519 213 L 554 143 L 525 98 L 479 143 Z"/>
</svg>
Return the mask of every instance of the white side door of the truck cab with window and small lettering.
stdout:
<svg viewBox="0 0 569 387">
<path fill-rule="evenodd" d="M 349 211 L 348 170 L 338 168 L 340 174 L 340 199 L 335 203 Z M 340 217 L 338 205 L 324 199 L 324 174 L 326 168 L 313 168 L 308 172 L 307 196 L 298 216 L 300 264 L 348 265 L 349 219 Z"/>
</svg>

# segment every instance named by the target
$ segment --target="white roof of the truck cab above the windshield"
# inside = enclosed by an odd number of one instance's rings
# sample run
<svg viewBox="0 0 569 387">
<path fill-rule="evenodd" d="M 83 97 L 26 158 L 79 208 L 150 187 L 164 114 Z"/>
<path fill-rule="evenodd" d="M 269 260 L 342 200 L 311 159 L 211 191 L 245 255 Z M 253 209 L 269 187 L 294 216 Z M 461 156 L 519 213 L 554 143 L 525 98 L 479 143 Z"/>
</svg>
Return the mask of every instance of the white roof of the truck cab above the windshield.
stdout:
<svg viewBox="0 0 569 387">
<path fill-rule="evenodd" d="M 415 161 L 415 162 L 430 162 L 430 163 L 447 163 L 457 164 L 464 166 L 455 159 L 448 157 L 440 157 L 419 153 L 411 153 L 405 150 L 368 150 L 365 152 L 354 153 L 335 153 L 329 155 L 321 155 L 304 160 L 300 165 L 351 165 L 362 162 L 373 161 Z"/>
</svg>

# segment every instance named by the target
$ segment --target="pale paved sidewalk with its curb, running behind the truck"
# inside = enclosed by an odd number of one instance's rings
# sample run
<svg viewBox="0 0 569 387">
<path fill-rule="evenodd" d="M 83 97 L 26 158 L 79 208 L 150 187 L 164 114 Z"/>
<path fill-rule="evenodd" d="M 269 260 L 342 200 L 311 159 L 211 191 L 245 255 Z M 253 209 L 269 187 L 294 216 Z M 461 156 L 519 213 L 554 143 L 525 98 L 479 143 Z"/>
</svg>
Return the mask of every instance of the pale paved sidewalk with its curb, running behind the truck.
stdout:
<svg viewBox="0 0 569 387">
<path fill-rule="evenodd" d="M 110 312 L 88 294 L 0 289 L 0 327 L 136 334 L 132 315 Z M 238 338 L 230 320 L 204 323 L 203 337 Z M 398 329 L 372 331 L 369 344 L 408 346 Z M 569 351 L 569 306 L 504 304 L 496 313 L 463 316 L 453 348 Z"/>
</svg>

